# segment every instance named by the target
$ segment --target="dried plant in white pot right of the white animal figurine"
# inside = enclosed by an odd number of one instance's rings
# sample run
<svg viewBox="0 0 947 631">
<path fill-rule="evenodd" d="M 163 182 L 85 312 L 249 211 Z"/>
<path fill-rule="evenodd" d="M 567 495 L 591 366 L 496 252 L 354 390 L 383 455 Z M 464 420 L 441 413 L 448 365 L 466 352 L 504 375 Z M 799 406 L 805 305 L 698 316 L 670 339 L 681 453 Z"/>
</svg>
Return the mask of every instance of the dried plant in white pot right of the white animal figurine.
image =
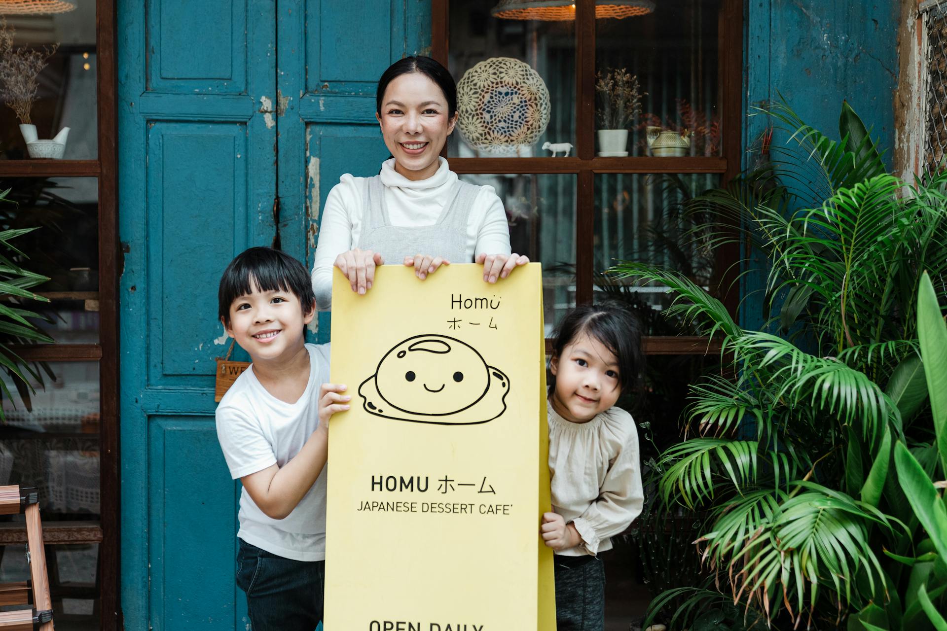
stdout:
<svg viewBox="0 0 947 631">
<path fill-rule="evenodd" d="M 641 113 L 642 93 L 638 78 L 624 68 L 610 68 L 603 77 L 596 74 L 596 93 L 599 95 L 599 155 L 626 156 L 628 127 Z"/>
</svg>

